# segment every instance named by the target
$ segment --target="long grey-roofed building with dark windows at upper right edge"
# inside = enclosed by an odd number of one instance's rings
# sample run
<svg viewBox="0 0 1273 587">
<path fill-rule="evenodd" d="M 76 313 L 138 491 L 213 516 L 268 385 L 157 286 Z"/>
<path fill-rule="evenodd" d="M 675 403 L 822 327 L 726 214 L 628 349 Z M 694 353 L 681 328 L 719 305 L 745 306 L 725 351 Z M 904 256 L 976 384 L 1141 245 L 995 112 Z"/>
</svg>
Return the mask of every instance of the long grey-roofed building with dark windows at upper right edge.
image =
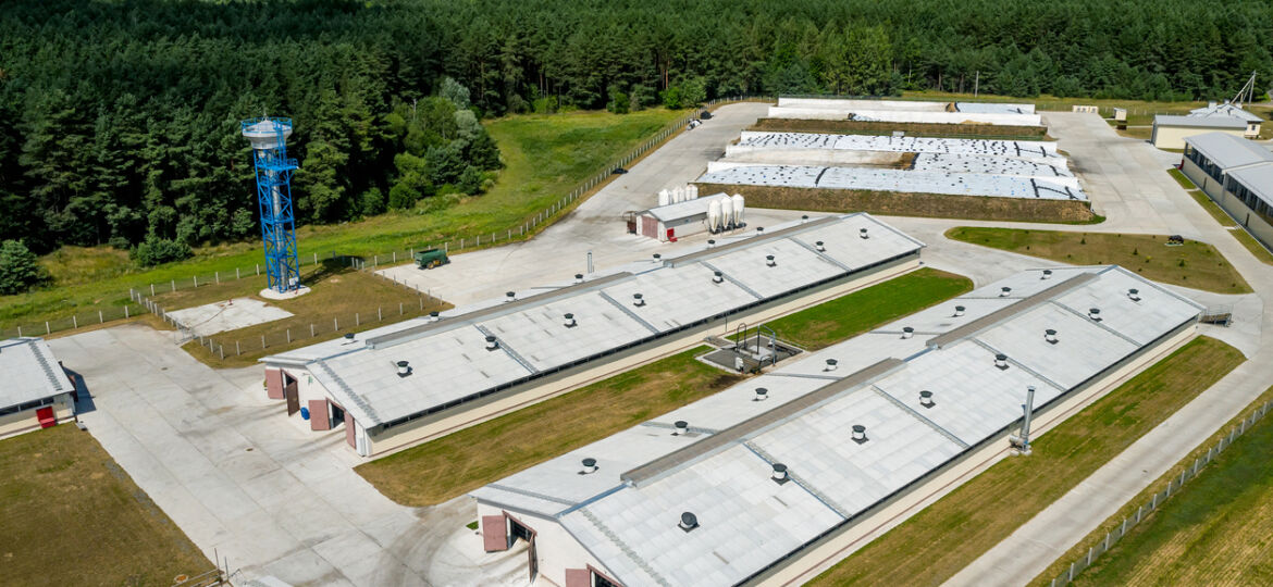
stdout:
<svg viewBox="0 0 1273 587">
<path fill-rule="evenodd" d="M 1273 151 L 1232 135 L 1198 135 L 1185 140 L 1180 170 L 1273 249 Z"/>
</svg>

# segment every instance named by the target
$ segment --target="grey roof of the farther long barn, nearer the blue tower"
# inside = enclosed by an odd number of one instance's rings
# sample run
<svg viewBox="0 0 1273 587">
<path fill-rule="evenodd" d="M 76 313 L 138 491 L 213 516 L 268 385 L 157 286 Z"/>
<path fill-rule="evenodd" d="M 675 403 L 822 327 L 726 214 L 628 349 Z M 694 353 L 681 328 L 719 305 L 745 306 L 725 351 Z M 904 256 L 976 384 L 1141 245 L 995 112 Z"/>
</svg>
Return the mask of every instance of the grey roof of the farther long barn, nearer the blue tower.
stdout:
<svg viewBox="0 0 1273 587">
<path fill-rule="evenodd" d="M 517 301 L 499 300 L 407 320 L 278 356 L 300 367 L 364 426 L 391 424 L 519 385 L 701 320 L 915 253 L 922 243 L 872 219 L 845 215 L 638 262 Z M 861 230 L 867 229 L 867 239 Z M 752 233 L 755 234 L 755 233 Z M 805 243 L 822 240 L 825 252 Z M 768 257 L 774 257 L 769 266 Z M 715 283 L 714 272 L 723 273 Z M 636 304 L 640 295 L 642 304 Z M 565 325 L 572 314 L 575 325 Z M 498 348 L 488 349 L 486 337 Z M 407 361 L 409 376 L 396 362 Z"/>
</svg>

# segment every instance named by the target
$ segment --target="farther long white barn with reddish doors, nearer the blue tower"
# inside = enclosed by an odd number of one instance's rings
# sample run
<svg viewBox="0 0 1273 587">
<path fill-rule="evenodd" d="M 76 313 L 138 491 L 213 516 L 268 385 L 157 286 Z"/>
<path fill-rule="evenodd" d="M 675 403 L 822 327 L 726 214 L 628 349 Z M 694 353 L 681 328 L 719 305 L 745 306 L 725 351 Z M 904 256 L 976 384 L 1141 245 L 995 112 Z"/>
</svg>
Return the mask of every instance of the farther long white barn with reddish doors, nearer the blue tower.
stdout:
<svg viewBox="0 0 1273 587">
<path fill-rule="evenodd" d="M 718 321 L 915 267 L 923 248 L 864 213 L 751 234 L 266 357 L 266 391 L 372 456 L 537 399 L 549 381 L 701 341 Z"/>
</svg>

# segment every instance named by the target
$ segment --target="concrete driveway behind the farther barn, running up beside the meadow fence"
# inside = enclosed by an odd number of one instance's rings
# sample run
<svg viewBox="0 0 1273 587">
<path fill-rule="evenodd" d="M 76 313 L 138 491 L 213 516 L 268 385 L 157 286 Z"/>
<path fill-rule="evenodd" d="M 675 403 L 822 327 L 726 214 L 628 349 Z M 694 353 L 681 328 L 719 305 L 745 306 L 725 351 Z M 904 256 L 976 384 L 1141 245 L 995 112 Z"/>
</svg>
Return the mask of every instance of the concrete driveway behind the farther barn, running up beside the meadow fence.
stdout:
<svg viewBox="0 0 1273 587">
<path fill-rule="evenodd" d="M 452 304 L 465 305 L 503 296 L 509 290 L 568 281 L 575 273 L 587 271 L 589 250 L 594 268 L 601 269 L 703 243 L 710 236 L 696 235 L 670 244 L 628 234 L 622 213 L 651 208 L 657 203 L 659 189 L 698 179 L 708 161 L 721 158 L 724 146 L 764 116 L 768 108 L 769 104 L 763 103 L 718 108 L 703 126 L 682 132 L 647 155 L 626 174 L 532 240 L 457 254 L 451 258 L 451 264 L 437 269 L 398 266 L 381 273 Z M 746 216 L 749 227 L 755 227 L 798 219 L 801 212 L 747 208 Z"/>
</svg>

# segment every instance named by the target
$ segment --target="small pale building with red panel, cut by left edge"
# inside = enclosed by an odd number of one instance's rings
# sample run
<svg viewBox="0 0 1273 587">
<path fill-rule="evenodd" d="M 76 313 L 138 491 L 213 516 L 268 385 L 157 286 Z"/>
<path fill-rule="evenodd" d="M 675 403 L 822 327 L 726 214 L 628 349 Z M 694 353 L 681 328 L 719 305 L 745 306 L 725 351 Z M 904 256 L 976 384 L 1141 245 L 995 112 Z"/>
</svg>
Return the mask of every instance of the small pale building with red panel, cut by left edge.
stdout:
<svg viewBox="0 0 1273 587">
<path fill-rule="evenodd" d="M 75 417 L 75 385 L 41 338 L 0 341 L 0 438 Z"/>
</svg>

